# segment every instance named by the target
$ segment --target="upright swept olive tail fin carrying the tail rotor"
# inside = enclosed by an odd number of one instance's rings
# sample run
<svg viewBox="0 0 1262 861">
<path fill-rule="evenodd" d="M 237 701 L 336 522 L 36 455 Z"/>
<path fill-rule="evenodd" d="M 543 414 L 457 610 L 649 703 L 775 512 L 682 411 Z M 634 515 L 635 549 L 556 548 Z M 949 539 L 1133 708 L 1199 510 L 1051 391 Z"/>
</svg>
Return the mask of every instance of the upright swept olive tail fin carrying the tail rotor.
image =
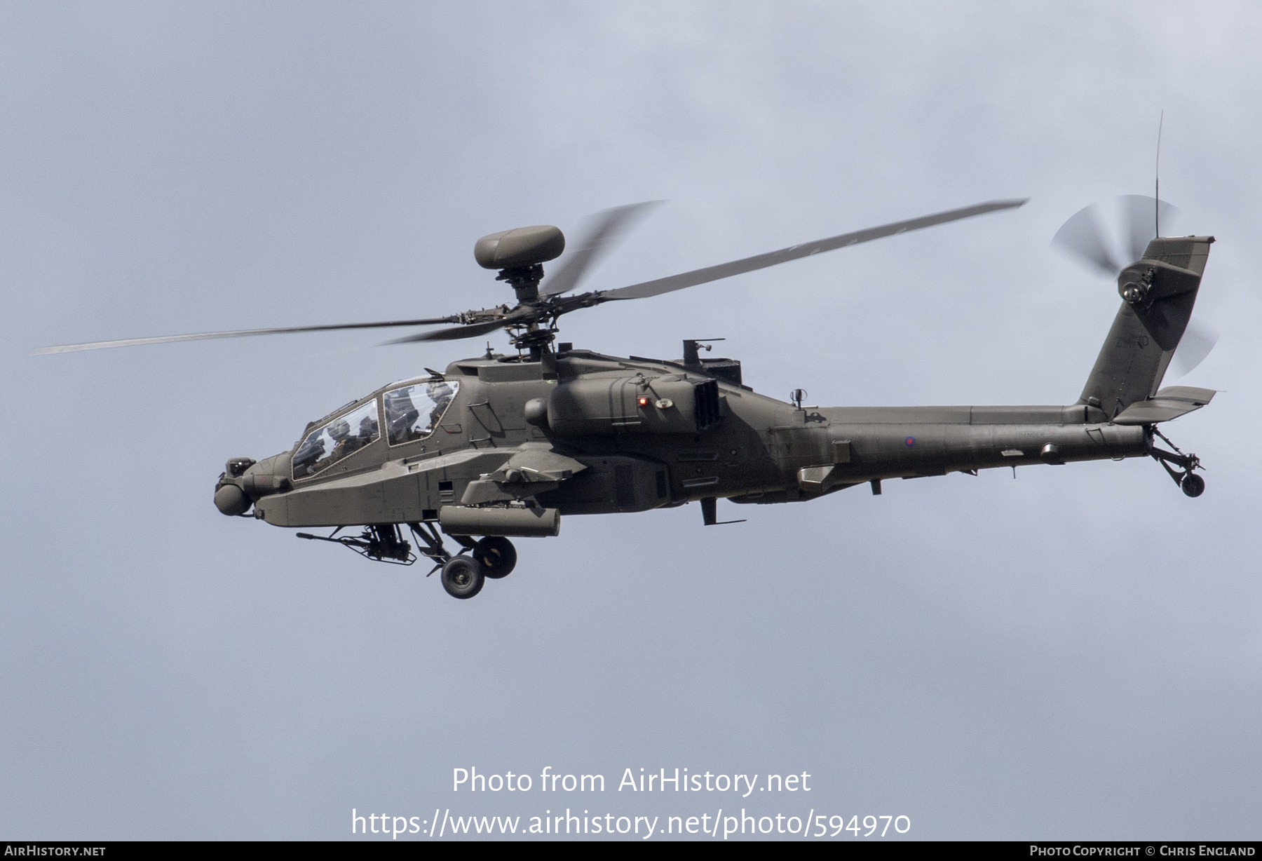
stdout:
<svg viewBox="0 0 1262 861">
<path fill-rule="evenodd" d="M 1213 236 L 1157 237 L 1117 276 L 1122 308 L 1078 403 L 1113 418 L 1151 398 L 1188 328 Z"/>
</svg>

